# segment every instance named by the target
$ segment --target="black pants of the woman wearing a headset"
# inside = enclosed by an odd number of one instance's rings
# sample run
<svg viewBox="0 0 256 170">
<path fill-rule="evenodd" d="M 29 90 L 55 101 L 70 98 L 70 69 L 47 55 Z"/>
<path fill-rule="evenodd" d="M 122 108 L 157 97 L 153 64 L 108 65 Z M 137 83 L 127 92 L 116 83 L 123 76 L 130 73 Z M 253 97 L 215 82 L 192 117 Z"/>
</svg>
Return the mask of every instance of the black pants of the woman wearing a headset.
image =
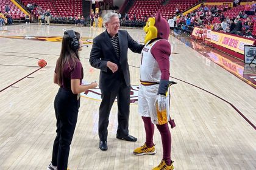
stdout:
<svg viewBox="0 0 256 170">
<path fill-rule="evenodd" d="M 68 167 L 68 155 L 77 122 L 80 98 L 71 91 L 60 88 L 54 100 L 55 116 L 57 119 L 57 136 L 52 151 L 52 165 L 58 170 Z"/>
</svg>

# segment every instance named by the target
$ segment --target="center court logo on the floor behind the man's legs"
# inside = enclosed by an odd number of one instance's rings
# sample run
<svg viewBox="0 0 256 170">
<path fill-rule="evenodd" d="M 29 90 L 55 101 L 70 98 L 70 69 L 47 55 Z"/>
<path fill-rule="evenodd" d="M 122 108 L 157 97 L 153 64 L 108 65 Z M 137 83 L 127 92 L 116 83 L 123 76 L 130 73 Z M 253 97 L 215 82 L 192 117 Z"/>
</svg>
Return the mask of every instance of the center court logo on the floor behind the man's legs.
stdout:
<svg viewBox="0 0 256 170">
<path fill-rule="evenodd" d="M 138 103 L 138 89 L 139 86 L 131 86 L 130 87 L 130 103 Z M 80 94 L 82 97 L 91 98 L 94 100 L 101 100 L 101 89 L 97 86 L 94 89 L 90 89 Z M 117 101 L 115 99 L 115 101 Z"/>
</svg>

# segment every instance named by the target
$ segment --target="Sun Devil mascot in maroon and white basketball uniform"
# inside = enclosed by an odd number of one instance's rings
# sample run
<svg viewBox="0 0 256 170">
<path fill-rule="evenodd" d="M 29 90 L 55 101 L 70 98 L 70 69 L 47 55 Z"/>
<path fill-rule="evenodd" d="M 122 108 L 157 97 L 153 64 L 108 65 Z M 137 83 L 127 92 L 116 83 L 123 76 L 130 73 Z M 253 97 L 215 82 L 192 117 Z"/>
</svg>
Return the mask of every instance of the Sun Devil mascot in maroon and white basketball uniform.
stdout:
<svg viewBox="0 0 256 170">
<path fill-rule="evenodd" d="M 171 127 L 174 120 L 169 115 L 169 87 L 176 84 L 169 81 L 169 57 L 171 44 L 169 24 L 162 18 L 160 12 L 154 18 L 149 18 L 144 27 L 146 38 L 142 51 L 140 66 L 140 90 L 138 92 L 138 112 L 144 122 L 146 142 L 133 151 L 135 155 L 156 154 L 153 143 L 154 124 L 162 137 L 163 159 L 154 169 L 174 169 L 171 160 Z"/>
</svg>

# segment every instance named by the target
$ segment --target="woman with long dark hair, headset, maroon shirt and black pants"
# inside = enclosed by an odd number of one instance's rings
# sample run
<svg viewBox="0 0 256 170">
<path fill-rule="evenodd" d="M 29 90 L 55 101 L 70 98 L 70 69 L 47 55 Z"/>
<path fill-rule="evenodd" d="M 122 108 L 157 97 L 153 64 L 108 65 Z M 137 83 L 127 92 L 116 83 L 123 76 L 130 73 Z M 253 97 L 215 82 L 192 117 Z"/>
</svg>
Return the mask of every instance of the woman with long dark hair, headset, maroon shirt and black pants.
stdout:
<svg viewBox="0 0 256 170">
<path fill-rule="evenodd" d="M 60 86 L 54 100 L 57 119 L 57 136 L 54 140 L 52 161 L 48 170 L 66 170 L 71 144 L 80 107 L 80 93 L 97 86 L 97 83 L 82 85 L 83 67 L 79 60 L 82 39 L 78 32 L 67 30 L 62 40 L 62 50 L 57 60 L 54 83 Z"/>
</svg>

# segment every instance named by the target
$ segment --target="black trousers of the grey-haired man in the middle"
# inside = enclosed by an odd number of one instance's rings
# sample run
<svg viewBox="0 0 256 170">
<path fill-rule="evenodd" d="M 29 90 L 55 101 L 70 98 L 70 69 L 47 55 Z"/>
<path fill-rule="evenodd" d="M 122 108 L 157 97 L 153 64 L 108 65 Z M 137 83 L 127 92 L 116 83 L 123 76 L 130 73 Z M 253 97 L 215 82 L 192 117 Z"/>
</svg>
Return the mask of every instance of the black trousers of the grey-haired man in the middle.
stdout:
<svg viewBox="0 0 256 170">
<path fill-rule="evenodd" d="M 129 114 L 130 114 L 130 86 L 126 86 L 125 81 L 121 81 L 119 89 L 115 92 L 101 92 L 101 106 L 99 106 L 99 139 L 107 140 L 108 117 L 111 107 L 117 97 L 118 101 L 118 130 L 116 135 L 127 135 Z"/>
</svg>

